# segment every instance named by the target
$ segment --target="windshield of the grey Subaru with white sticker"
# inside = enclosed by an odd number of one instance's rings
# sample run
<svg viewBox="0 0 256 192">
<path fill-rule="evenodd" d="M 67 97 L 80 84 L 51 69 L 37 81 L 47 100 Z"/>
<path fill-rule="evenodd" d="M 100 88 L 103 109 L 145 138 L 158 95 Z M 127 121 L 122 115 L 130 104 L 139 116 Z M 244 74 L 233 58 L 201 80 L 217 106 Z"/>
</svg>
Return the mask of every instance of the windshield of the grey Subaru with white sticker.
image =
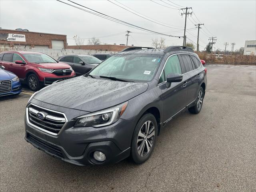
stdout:
<svg viewBox="0 0 256 192">
<path fill-rule="evenodd" d="M 156 54 L 116 54 L 94 68 L 90 75 L 149 82 L 154 78 L 162 57 Z"/>
</svg>

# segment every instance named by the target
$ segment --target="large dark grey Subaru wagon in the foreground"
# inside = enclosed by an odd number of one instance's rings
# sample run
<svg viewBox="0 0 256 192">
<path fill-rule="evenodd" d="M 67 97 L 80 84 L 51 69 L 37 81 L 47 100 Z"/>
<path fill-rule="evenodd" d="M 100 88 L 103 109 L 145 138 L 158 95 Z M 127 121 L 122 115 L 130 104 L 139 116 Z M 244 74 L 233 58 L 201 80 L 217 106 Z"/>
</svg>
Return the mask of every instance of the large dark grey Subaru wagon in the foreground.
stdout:
<svg viewBox="0 0 256 192">
<path fill-rule="evenodd" d="M 192 48 L 126 48 L 86 75 L 31 96 L 25 140 L 76 165 L 141 164 L 174 116 L 202 109 L 206 69 Z M 61 98 L 60 98 L 61 96 Z"/>
</svg>

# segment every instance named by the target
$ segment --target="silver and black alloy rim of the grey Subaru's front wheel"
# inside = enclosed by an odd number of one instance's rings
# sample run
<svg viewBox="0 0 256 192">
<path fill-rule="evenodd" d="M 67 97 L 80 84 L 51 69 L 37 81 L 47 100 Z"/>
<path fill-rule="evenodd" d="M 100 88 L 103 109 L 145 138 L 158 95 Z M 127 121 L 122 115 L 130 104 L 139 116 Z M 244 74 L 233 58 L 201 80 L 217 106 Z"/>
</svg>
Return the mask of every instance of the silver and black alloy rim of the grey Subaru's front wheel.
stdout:
<svg viewBox="0 0 256 192">
<path fill-rule="evenodd" d="M 148 154 L 153 146 L 155 127 L 152 121 L 146 121 L 140 128 L 137 138 L 137 151 L 140 156 Z"/>
</svg>

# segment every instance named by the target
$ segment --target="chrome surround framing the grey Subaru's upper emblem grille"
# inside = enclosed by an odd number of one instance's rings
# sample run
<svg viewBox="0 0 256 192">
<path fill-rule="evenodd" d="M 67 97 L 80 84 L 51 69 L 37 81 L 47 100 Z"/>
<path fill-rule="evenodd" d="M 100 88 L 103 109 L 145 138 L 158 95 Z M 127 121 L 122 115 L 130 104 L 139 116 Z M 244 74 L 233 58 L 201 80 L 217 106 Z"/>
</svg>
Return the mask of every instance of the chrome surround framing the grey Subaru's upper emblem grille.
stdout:
<svg viewBox="0 0 256 192">
<path fill-rule="evenodd" d="M 58 133 L 50 132 L 50 131 L 48 131 L 48 130 L 45 130 L 45 129 L 43 129 L 43 128 L 40 128 L 40 127 L 38 127 L 38 126 L 32 124 L 32 123 L 29 121 L 29 118 L 28 118 L 28 108 L 29 108 L 31 105 L 32 105 L 32 106 L 36 106 L 36 107 L 41 108 L 41 109 L 44 109 L 44 110 L 48 110 L 48 111 L 54 112 L 54 113 L 62 114 L 62 115 L 64 116 L 64 118 L 66 119 L 65 124 L 62 126 L 62 128 L 60 129 L 60 131 L 59 131 Z M 58 112 L 58 111 L 54 111 L 54 110 L 51 110 L 51 109 L 47 109 L 47 108 L 44 108 L 44 107 L 40 107 L 40 106 L 38 106 L 38 105 L 36 105 L 36 104 L 32 104 L 32 103 L 30 103 L 30 104 L 28 104 L 28 106 L 26 106 L 26 120 L 27 120 L 28 124 L 29 124 L 32 128 L 34 128 L 34 130 L 37 130 L 37 131 L 40 130 L 41 132 L 48 133 L 48 134 L 53 135 L 53 136 L 58 136 L 58 135 L 62 132 L 62 130 L 66 127 L 66 124 L 68 123 L 68 119 L 67 119 L 67 117 L 66 117 L 66 115 L 65 115 L 64 113 Z"/>
</svg>

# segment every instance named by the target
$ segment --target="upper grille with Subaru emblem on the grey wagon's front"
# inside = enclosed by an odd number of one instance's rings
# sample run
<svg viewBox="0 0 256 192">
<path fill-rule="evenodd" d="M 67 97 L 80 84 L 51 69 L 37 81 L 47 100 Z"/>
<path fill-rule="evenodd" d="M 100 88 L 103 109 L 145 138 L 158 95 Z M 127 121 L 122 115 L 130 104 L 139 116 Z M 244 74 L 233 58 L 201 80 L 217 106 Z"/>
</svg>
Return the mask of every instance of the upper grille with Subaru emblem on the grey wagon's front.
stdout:
<svg viewBox="0 0 256 192">
<path fill-rule="evenodd" d="M 27 115 L 30 124 L 53 135 L 57 135 L 66 123 L 66 118 L 62 113 L 34 105 L 28 107 Z"/>
</svg>

